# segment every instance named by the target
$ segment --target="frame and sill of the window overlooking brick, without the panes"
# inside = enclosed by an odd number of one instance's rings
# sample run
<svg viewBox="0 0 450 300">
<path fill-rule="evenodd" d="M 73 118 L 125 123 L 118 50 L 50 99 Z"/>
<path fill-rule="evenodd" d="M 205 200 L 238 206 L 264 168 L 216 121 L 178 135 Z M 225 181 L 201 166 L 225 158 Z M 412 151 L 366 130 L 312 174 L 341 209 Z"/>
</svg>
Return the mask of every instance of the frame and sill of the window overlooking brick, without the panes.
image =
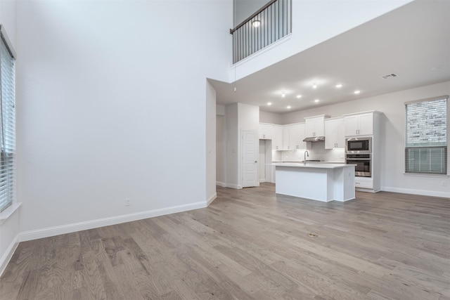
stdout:
<svg viewBox="0 0 450 300">
<path fill-rule="evenodd" d="M 445 133 L 446 133 L 446 141 L 445 145 L 417 145 L 417 146 L 408 146 L 408 105 L 415 104 L 415 103 L 425 103 L 425 102 L 432 102 L 437 100 L 445 100 L 446 101 L 446 112 L 445 112 Z M 404 174 L 406 175 L 425 175 L 425 176 L 448 176 L 449 174 L 449 161 L 448 161 L 448 144 L 449 144 L 449 96 L 439 96 L 439 97 L 433 97 L 433 98 L 426 98 L 421 100 L 415 100 L 415 101 L 409 101 L 404 103 L 405 105 L 405 118 L 404 118 L 404 126 L 405 126 L 405 136 L 404 136 Z M 419 149 L 420 150 L 437 150 L 437 149 L 444 149 L 444 159 L 445 162 L 442 164 L 445 168 L 445 172 L 432 172 L 432 171 L 417 171 L 413 170 L 410 171 L 407 169 L 409 162 L 407 161 L 408 155 L 407 152 L 410 149 Z M 430 155 L 430 152 L 428 152 L 428 155 Z"/>
</svg>

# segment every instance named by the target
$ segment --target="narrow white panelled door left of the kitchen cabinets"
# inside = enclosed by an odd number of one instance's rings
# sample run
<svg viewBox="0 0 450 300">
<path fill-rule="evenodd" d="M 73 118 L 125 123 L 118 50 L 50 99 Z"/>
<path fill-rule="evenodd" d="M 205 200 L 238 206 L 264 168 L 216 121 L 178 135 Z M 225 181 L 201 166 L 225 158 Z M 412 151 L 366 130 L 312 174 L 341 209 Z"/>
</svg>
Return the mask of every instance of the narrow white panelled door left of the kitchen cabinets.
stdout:
<svg viewBox="0 0 450 300">
<path fill-rule="evenodd" d="M 258 186 L 259 139 L 256 130 L 243 130 L 242 140 L 242 187 Z"/>
</svg>

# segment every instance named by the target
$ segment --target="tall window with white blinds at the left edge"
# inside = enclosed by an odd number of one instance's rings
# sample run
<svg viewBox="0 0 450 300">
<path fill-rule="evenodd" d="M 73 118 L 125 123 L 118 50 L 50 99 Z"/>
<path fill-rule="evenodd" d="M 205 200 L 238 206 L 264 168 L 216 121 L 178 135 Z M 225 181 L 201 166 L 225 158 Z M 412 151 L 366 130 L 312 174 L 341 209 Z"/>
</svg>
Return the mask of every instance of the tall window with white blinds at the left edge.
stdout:
<svg viewBox="0 0 450 300">
<path fill-rule="evenodd" d="M 15 55 L 0 25 L 0 211 L 15 197 Z"/>
</svg>

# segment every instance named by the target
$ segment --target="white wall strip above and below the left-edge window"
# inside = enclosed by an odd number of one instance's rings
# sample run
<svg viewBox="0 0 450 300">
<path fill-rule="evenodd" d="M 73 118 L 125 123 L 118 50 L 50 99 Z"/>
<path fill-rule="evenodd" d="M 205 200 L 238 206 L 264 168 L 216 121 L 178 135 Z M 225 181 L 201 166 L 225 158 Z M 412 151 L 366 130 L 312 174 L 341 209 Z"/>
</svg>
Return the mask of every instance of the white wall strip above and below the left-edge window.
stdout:
<svg viewBox="0 0 450 300">
<path fill-rule="evenodd" d="M 17 51 L 16 44 L 16 25 L 15 25 L 15 1 L 0 1 L 0 24 L 4 27 L 8 39 L 15 51 Z M 6 267 L 11 254 L 18 244 L 18 235 L 20 233 L 20 208 L 13 211 L 10 215 L 9 207 L 4 211 L 3 215 L 8 214 L 8 219 L 0 221 L 0 275 Z"/>
</svg>

